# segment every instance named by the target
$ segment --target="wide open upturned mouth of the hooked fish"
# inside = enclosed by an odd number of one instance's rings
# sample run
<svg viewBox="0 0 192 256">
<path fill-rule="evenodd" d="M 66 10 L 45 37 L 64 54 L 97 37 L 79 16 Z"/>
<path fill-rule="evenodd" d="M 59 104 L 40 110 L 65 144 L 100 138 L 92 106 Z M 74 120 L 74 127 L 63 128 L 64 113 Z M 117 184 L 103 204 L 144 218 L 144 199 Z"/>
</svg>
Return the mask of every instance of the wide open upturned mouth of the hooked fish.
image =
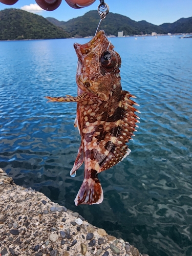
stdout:
<svg viewBox="0 0 192 256">
<path fill-rule="evenodd" d="M 104 30 L 100 30 L 97 34 L 91 39 L 91 41 L 87 42 L 87 44 L 80 45 L 78 43 L 74 44 L 74 48 L 78 58 L 82 58 L 83 54 L 87 54 L 91 52 L 105 37 Z"/>
</svg>

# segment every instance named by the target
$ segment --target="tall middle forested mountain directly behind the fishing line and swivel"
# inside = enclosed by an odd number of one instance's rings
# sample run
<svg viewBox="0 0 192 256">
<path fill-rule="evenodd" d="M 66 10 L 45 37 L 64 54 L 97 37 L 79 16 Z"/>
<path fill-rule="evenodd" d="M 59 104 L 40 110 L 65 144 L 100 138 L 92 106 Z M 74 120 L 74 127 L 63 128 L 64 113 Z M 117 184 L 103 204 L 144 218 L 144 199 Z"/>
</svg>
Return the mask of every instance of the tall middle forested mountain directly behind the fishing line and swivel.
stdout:
<svg viewBox="0 0 192 256">
<path fill-rule="evenodd" d="M 70 19 L 68 22 L 58 22 L 57 19 L 47 18 L 51 23 L 68 31 L 72 36 L 90 36 L 94 35 L 100 17 L 97 11 L 89 11 L 81 17 Z M 116 35 L 118 31 L 124 31 L 124 35 L 145 34 L 156 31 L 163 33 L 163 28 L 145 22 L 135 22 L 129 17 L 110 12 L 101 23 L 100 29 L 103 29 L 107 35 Z"/>
</svg>

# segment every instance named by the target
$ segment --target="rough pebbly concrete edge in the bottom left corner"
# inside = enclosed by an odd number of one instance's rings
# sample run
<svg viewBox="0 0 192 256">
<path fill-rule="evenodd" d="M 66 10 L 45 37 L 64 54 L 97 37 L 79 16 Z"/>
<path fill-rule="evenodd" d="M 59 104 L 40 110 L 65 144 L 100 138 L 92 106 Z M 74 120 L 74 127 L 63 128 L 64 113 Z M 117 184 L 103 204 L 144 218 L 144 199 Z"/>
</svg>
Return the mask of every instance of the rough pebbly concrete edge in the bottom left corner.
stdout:
<svg viewBox="0 0 192 256">
<path fill-rule="evenodd" d="M 148 256 L 0 168 L 0 256 Z"/>
</svg>

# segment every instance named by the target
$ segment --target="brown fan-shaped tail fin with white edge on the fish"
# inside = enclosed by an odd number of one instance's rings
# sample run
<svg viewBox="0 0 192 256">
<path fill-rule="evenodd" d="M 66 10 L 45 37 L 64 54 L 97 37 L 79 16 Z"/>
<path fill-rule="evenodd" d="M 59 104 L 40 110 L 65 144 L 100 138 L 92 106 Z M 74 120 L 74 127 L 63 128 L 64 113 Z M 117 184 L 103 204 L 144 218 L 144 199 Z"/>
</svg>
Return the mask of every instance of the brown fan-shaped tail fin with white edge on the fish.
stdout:
<svg viewBox="0 0 192 256">
<path fill-rule="evenodd" d="M 84 179 L 75 198 L 75 205 L 100 204 L 103 201 L 103 190 L 98 178 Z"/>
</svg>

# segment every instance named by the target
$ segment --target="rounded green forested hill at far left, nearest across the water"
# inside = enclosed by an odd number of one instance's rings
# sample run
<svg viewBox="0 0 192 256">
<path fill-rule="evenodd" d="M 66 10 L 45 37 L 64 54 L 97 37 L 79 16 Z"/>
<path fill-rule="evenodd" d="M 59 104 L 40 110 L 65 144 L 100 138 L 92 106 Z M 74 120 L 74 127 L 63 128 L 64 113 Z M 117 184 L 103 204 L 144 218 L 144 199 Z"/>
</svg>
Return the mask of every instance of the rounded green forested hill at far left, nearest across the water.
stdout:
<svg viewBox="0 0 192 256">
<path fill-rule="evenodd" d="M 46 18 L 18 9 L 0 11 L 0 40 L 70 37 Z"/>
</svg>

